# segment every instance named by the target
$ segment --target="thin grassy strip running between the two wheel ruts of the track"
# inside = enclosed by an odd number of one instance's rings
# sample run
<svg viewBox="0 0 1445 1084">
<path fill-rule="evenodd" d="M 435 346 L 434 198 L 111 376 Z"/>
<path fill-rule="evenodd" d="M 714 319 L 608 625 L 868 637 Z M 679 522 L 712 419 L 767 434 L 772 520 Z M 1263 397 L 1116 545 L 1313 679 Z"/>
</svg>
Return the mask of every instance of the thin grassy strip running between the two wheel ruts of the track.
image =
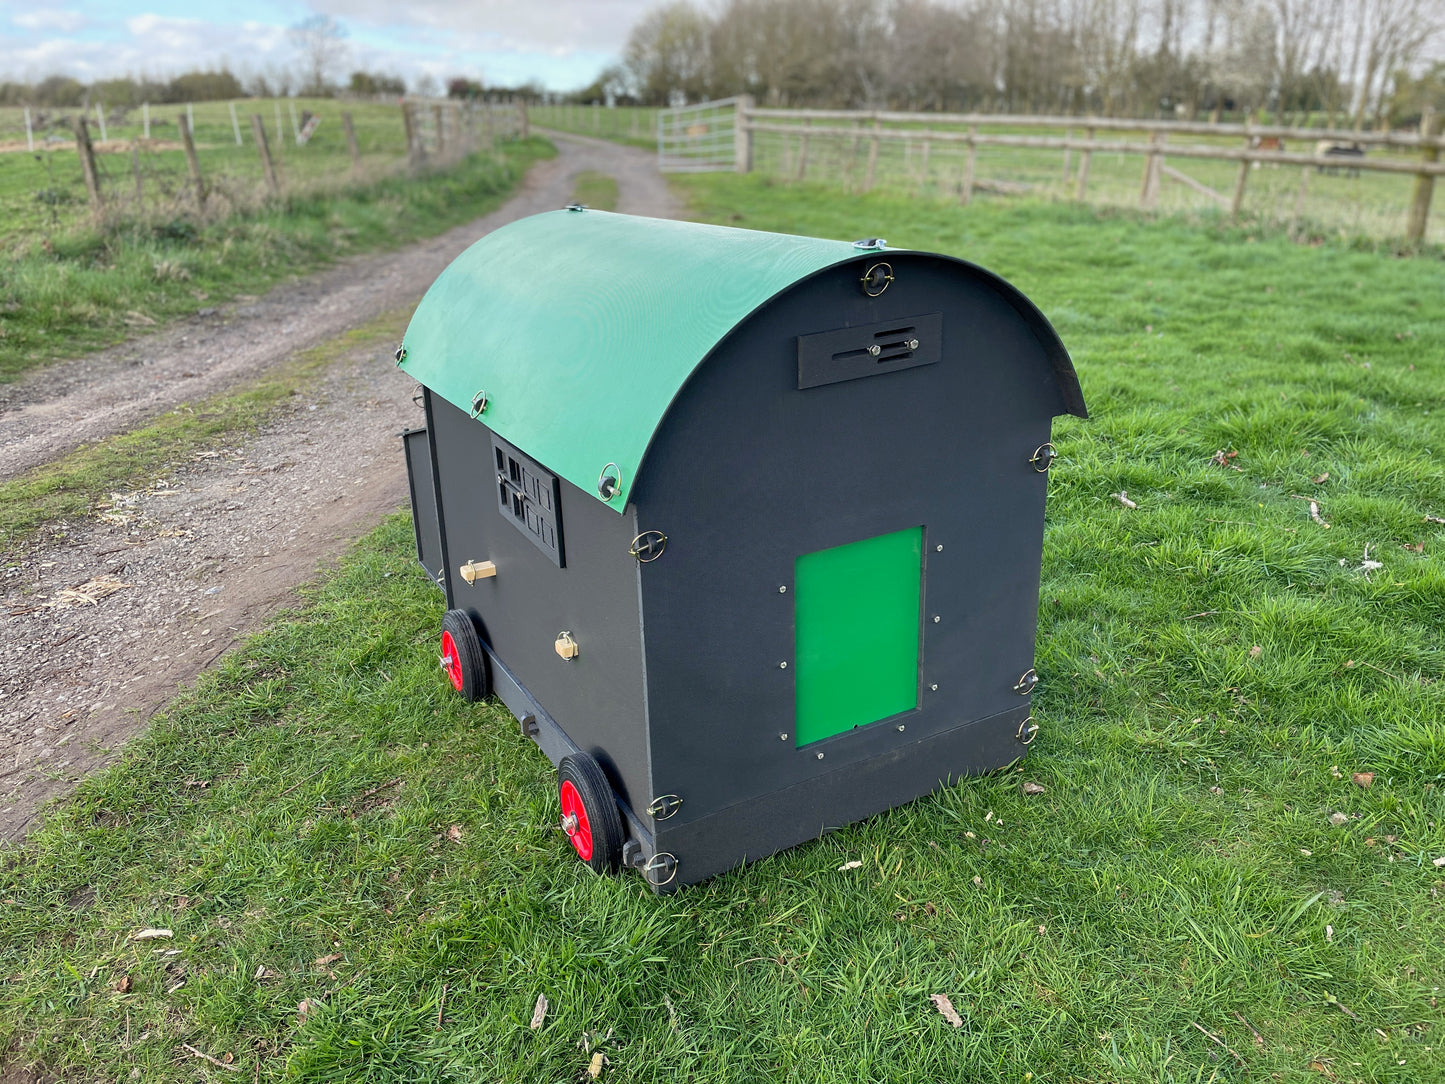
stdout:
<svg viewBox="0 0 1445 1084">
<path fill-rule="evenodd" d="M 149 425 L 81 445 L 68 455 L 0 483 L 0 562 L 40 525 L 85 515 L 111 490 L 143 486 L 194 451 L 256 432 L 301 389 L 341 357 L 400 341 L 410 306 L 384 312 L 360 328 L 303 350 L 244 387 L 181 403 Z"/>
</svg>

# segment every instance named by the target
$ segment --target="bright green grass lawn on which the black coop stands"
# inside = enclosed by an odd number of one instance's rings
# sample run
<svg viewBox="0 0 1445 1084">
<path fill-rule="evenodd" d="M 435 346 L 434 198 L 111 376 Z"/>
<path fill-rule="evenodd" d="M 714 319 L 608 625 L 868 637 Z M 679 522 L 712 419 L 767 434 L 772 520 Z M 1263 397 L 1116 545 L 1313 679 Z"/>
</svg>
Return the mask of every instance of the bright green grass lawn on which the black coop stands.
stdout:
<svg viewBox="0 0 1445 1084">
<path fill-rule="evenodd" d="M 574 1081 L 598 1049 L 627 1081 L 1441 1080 L 1445 266 L 683 188 L 957 253 L 1059 328 L 1092 418 L 1055 435 L 1029 757 L 673 898 L 594 877 L 546 760 L 438 674 L 399 517 L 7 857 L 0 1049 L 147 1081 Z"/>
</svg>

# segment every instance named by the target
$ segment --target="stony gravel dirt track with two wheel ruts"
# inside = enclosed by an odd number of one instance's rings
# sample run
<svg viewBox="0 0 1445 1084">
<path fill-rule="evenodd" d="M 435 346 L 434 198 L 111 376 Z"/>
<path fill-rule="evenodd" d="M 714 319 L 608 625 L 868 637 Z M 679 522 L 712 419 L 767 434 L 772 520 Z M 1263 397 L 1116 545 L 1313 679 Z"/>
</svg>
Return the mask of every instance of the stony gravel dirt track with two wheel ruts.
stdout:
<svg viewBox="0 0 1445 1084">
<path fill-rule="evenodd" d="M 483 234 L 565 205 L 579 171 L 617 179 L 618 211 L 678 212 L 646 152 L 555 142 L 558 158 L 474 223 L 0 386 L 0 480 L 415 302 Z M 179 685 L 406 503 L 396 434 L 420 423 L 413 389 L 387 350 L 361 351 L 256 438 L 114 494 L 4 569 L 0 841 L 23 838 L 45 799 L 104 765 Z"/>
</svg>

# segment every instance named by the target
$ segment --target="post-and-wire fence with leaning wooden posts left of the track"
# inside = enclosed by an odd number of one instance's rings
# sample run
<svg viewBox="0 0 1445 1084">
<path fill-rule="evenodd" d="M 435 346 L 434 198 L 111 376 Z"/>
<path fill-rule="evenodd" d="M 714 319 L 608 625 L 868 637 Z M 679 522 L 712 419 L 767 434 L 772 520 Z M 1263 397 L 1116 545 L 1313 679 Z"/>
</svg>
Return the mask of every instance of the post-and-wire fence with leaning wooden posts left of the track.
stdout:
<svg viewBox="0 0 1445 1084">
<path fill-rule="evenodd" d="M 0 249 L 97 220 L 224 215 L 374 182 L 449 163 L 526 124 L 512 101 L 416 98 L 0 108 Z"/>
</svg>

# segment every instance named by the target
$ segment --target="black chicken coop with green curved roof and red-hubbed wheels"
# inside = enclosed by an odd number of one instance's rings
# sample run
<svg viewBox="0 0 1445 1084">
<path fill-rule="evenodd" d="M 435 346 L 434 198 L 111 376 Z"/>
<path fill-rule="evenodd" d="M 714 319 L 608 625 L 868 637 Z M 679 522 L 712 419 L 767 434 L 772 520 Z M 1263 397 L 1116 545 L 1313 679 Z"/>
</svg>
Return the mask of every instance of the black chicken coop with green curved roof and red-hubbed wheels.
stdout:
<svg viewBox="0 0 1445 1084">
<path fill-rule="evenodd" d="M 1051 425 L 1085 409 L 998 276 L 574 207 L 462 253 L 397 363 L 442 669 L 558 765 L 594 870 L 670 890 L 1033 739 Z"/>
</svg>

